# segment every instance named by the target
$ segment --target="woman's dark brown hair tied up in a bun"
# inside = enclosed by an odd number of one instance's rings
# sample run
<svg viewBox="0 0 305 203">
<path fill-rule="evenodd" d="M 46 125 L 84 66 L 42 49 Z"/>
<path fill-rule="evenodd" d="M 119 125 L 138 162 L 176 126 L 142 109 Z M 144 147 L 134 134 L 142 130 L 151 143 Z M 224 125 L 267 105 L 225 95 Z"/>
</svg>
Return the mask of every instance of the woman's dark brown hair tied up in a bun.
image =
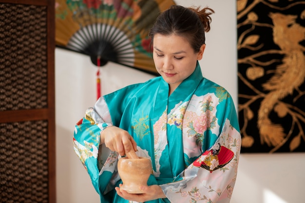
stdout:
<svg viewBox="0 0 305 203">
<path fill-rule="evenodd" d="M 149 32 L 153 44 L 155 34 L 164 36 L 176 35 L 185 37 L 191 44 L 195 53 L 199 52 L 200 47 L 205 44 L 205 32 L 210 31 L 210 15 L 214 11 L 208 7 L 200 10 L 199 7 L 186 8 L 173 5 L 161 13 L 156 19 Z"/>
</svg>

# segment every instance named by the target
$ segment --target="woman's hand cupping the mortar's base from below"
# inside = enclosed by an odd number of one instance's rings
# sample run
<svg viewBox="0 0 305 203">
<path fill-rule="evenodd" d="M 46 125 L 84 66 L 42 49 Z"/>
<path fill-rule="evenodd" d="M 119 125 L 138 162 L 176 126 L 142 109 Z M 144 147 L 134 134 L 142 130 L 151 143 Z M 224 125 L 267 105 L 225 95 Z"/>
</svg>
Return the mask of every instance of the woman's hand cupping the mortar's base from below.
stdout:
<svg viewBox="0 0 305 203">
<path fill-rule="evenodd" d="M 120 184 L 120 186 L 121 185 L 122 184 Z M 162 188 L 159 185 L 141 186 L 139 189 L 143 191 L 143 194 L 130 194 L 125 190 L 120 189 L 119 187 L 115 187 L 116 193 L 120 197 L 124 198 L 125 200 L 135 201 L 138 203 L 166 198 Z"/>
</svg>

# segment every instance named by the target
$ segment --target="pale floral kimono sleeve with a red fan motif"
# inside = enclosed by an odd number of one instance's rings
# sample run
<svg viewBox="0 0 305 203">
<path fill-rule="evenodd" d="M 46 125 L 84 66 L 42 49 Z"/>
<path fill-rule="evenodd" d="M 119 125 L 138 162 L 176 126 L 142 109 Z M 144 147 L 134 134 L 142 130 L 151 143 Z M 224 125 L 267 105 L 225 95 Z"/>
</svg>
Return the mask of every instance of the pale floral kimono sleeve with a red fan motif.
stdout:
<svg viewBox="0 0 305 203">
<path fill-rule="evenodd" d="M 172 183 L 160 185 L 172 203 L 229 203 L 237 175 L 241 135 L 231 98 L 225 103 L 214 145 Z"/>
</svg>

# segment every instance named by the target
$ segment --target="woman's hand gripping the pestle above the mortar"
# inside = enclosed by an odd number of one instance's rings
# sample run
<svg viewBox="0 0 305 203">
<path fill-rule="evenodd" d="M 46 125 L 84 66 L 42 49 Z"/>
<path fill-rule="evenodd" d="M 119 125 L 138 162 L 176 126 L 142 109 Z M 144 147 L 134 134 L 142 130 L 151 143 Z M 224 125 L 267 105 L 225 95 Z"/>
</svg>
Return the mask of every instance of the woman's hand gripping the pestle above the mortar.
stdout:
<svg viewBox="0 0 305 203">
<path fill-rule="evenodd" d="M 121 156 L 133 150 L 137 151 L 136 143 L 128 131 L 116 126 L 107 127 L 101 132 L 100 143 L 105 143 L 107 148 L 112 151 L 117 151 Z"/>
</svg>

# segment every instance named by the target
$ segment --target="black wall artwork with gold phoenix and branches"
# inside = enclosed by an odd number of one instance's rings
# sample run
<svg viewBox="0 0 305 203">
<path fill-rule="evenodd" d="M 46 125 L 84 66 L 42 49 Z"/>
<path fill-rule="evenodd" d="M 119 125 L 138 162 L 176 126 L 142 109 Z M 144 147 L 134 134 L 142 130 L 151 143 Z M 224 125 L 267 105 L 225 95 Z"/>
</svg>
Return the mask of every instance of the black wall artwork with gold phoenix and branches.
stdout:
<svg viewBox="0 0 305 203">
<path fill-rule="evenodd" d="M 237 0 L 242 153 L 305 151 L 305 1 Z"/>
</svg>

